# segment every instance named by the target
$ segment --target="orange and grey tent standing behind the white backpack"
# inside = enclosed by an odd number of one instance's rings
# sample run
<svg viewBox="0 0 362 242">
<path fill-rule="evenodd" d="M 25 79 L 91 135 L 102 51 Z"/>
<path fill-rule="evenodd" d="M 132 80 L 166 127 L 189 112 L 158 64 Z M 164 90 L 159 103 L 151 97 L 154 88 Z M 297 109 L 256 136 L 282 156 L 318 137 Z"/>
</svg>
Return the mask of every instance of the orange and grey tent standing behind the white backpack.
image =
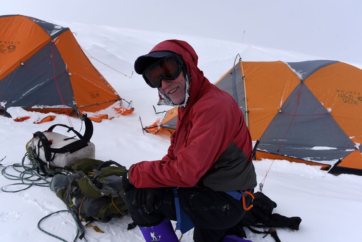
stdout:
<svg viewBox="0 0 362 242">
<path fill-rule="evenodd" d="M 122 99 L 92 65 L 69 28 L 22 15 L 0 16 L 0 108 L 97 112 Z"/>
</svg>

